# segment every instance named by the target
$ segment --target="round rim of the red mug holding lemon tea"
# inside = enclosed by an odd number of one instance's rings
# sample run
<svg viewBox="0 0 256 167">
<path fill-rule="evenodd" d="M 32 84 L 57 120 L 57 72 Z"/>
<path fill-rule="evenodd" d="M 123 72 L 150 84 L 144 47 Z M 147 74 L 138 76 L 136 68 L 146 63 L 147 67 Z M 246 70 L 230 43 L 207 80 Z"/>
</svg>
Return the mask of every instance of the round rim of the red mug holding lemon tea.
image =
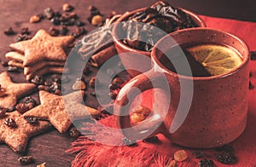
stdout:
<svg viewBox="0 0 256 167">
<path fill-rule="evenodd" d="M 239 43 L 241 43 L 241 45 L 243 46 L 243 48 L 245 49 L 245 52 L 246 52 L 245 55 L 241 55 L 242 56 L 241 57 L 241 59 L 242 59 L 241 64 L 239 66 L 236 66 L 235 68 L 233 68 L 230 72 L 225 72 L 223 74 L 209 76 L 209 77 L 190 77 L 190 76 L 185 76 L 185 75 L 182 75 L 182 74 L 177 74 L 176 72 L 172 72 L 171 70 L 166 68 L 166 66 L 164 66 L 160 62 L 158 57 L 156 56 L 158 54 L 158 52 L 159 52 L 159 50 L 157 48 L 160 45 L 160 43 L 163 43 L 163 41 L 166 40 L 166 38 L 172 37 L 172 36 L 177 35 L 179 33 L 189 32 L 189 31 L 190 32 L 210 31 L 210 32 L 224 33 L 224 34 L 228 35 L 229 37 L 236 38 L 236 40 Z M 239 72 L 242 67 L 247 65 L 247 63 L 249 61 L 249 57 L 250 57 L 249 55 L 250 55 L 250 49 L 247 46 L 247 43 L 244 40 L 242 40 L 241 37 L 237 37 L 236 35 L 234 35 L 234 34 L 232 34 L 230 32 L 225 32 L 225 31 L 221 31 L 221 30 L 217 30 L 217 29 L 213 29 L 213 28 L 209 28 L 209 27 L 194 27 L 194 28 L 179 30 L 177 32 L 172 32 L 172 33 L 167 34 L 165 37 L 160 38 L 160 40 L 157 43 L 155 43 L 155 45 L 154 45 L 154 47 L 153 47 L 153 49 L 151 51 L 151 60 L 152 60 L 152 63 L 153 63 L 152 69 L 154 69 L 155 65 L 160 66 L 161 69 L 163 69 L 165 72 L 168 72 L 169 74 L 171 74 L 172 76 L 174 76 L 176 78 L 183 78 L 183 79 L 190 79 L 190 80 L 211 80 L 211 79 L 218 79 L 218 78 L 226 78 L 226 77 L 228 77 L 230 75 L 233 75 L 236 72 Z"/>
</svg>

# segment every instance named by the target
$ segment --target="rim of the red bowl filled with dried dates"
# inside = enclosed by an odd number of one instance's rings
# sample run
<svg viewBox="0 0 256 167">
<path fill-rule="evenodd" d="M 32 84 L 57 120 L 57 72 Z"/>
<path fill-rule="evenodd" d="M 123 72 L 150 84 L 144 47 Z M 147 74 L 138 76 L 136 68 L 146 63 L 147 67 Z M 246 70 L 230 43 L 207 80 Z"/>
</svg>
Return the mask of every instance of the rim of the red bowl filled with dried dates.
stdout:
<svg viewBox="0 0 256 167">
<path fill-rule="evenodd" d="M 147 9 L 148 7 L 144 7 L 144 8 L 141 8 L 141 9 L 135 9 L 135 10 L 132 10 L 131 12 L 126 12 L 125 14 L 123 14 L 117 21 L 116 21 L 116 24 L 113 25 L 113 30 L 112 30 L 112 34 L 113 34 L 113 41 L 114 43 L 118 44 L 120 47 L 130 51 L 130 52 L 137 52 L 139 54 L 142 54 L 142 55 L 147 55 L 148 57 L 150 56 L 150 53 L 152 52 L 148 52 L 148 51 L 144 51 L 144 50 L 140 50 L 140 49 L 134 49 L 134 48 L 131 48 L 130 46 L 128 46 L 127 44 L 123 43 L 122 41 L 119 40 L 119 36 L 118 36 L 118 33 L 117 33 L 117 26 L 118 26 L 118 23 L 119 22 L 122 22 L 122 21 L 125 21 L 127 19 L 127 17 L 131 16 L 131 14 L 135 14 L 139 11 L 142 11 L 142 10 L 145 10 Z M 185 12 L 186 14 L 189 14 L 190 16 L 192 16 L 192 19 L 194 20 L 197 20 L 198 21 L 198 25 L 197 26 L 200 26 L 200 27 L 207 27 L 206 23 L 204 20 L 201 19 L 201 17 L 198 15 L 198 14 L 195 14 L 194 12 L 188 10 L 188 9 L 183 9 L 183 8 L 177 8 L 177 9 L 181 9 L 183 10 L 183 12 Z M 190 28 L 186 28 L 186 29 L 190 29 Z M 175 32 L 178 32 L 180 30 L 177 30 Z M 173 32 L 171 32 L 173 33 Z"/>
</svg>

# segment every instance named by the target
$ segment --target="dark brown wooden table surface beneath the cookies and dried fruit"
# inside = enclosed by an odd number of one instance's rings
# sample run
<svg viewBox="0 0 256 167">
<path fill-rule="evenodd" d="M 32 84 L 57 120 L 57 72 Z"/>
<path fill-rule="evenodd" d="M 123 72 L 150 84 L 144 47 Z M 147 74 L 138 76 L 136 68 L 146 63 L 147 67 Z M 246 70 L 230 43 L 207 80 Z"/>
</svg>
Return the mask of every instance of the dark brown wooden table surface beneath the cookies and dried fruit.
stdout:
<svg viewBox="0 0 256 167">
<path fill-rule="evenodd" d="M 44 9 L 50 7 L 56 11 L 61 11 L 63 3 L 70 3 L 75 7 L 77 14 L 81 20 L 86 20 L 89 16 L 87 10 L 89 5 L 94 5 L 100 9 L 102 14 L 109 14 L 115 10 L 118 13 L 124 13 L 132 9 L 138 9 L 149 6 L 156 1 L 137 1 L 137 0 L 70 0 L 70 1 L 50 1 L 50 0 L 0 0 L 0 60 L 5 60 L 3 55 L 9 50 L 9 44 L 14 42 L 15 36 L 5 36 L 3 30 L 9 26 L 16 31 L 20 31 L 21 27 L 29 27 L 32 33 L 39 28 L 49 30 L 52 26 L 49 20 L 43 20 L 38 24 L 28 22 L 32 14 L 44 13 Z M 207 14 L 211 16 L 231 18 L 236 20 L 256 21 L 256 2 L 254 0 L 243 1 L 223 1 L 223 0 L 169 0 L 167 1 L 174 6 L 190 9 L 197 14 Z M 86 21 L 85 21 L 86 22 Z M 87 22 L 85 26 L 87 30 L 92 30 L 93 26 Z M 71 32 L 73 29 L 71 30 Z M 4 71 L 4 67 L 0 65 L 0 72 Z M 11 74 L 14 82 L 26 82 L 22 75 Z M 37 95 L 35 95 L 37 97 Z M 96 107 L 96 101 L 89 98 L 85 101 L 91 107 Z M 67 133 L 60 134 L 52 128 L 42 135 L 33 137 L 28 144 L 26 154 L 32 155 L 35 158 L 35 163 L 27 166 L 35 166 L 36 164 L 46 163 L 47 166 L 70 166 L 73 160 L 73 155 L 65 153 L 65 150 L 74 141 Z M 0 167 L 2 166 L 20 166 L 17 159 L 19 154 L 14 153 L 5 144 L 0 145 Z"/>
</svg>

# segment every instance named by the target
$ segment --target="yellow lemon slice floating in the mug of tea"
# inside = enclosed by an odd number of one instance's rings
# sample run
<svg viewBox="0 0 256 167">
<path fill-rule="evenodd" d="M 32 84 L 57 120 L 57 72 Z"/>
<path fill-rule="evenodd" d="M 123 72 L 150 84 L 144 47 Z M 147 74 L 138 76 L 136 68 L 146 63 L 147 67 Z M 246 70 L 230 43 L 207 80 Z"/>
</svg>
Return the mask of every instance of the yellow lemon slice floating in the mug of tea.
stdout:
<svg viewBox="0 0 256 167">
<path fill-rule="evenodd" d="M 216 44 L 197 45 L 187 51 L 205 67 L 212 76 L 230 72 L 241 65 L 241 56 L 234 49 Z"/>
</svg>

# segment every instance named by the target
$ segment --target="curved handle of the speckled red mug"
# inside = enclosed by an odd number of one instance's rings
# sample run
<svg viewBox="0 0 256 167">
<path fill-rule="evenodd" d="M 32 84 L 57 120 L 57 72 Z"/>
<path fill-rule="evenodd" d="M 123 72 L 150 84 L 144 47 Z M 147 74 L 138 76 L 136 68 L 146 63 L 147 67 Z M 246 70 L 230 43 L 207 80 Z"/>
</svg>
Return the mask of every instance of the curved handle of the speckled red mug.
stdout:
<svg viewBox="0 0 256 167">
<path fill-rule="evenodd" d="M 113 106 L 113 111 L 116 124 L 119 129 L 122 130 L 122 133 L 126 138 L 131 140 L 142 140 L 164 132 L 165 128 L 162 123 L 165 114 L 163 112 L 168 111 L 169 108 L 155 110 L 153 111 L 153 115 L 149 118 L 146 118 L 139 124 L 131 126 L 130 107 L 132 100 L 134 100 L 141 92 L 154 88 L 161 89 L 164 85 L 163 82 L 166 82 L 165 79 L 166 77 L 163 72 L 154 72 L 154 68 L 152 68 L 148 72 L 144 72 L 137 77 L 132 78 L 122 89 L 120 89 L 119 95 Z M 134 88 L 139 89 L 141 92 Z"/>
</svg>

